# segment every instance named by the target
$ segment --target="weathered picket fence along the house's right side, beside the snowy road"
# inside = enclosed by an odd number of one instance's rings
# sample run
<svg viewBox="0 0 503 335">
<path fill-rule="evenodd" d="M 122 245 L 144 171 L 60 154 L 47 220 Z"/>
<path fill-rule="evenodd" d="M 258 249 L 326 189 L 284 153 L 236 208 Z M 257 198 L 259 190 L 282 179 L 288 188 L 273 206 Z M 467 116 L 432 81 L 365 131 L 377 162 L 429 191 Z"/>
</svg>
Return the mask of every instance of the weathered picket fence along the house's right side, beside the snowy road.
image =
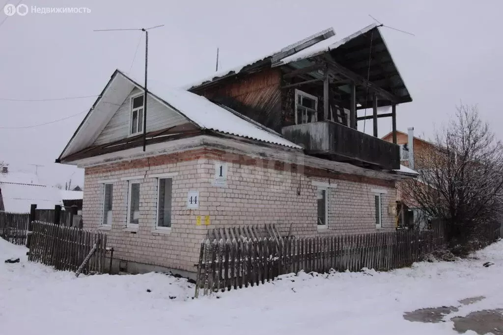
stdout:
<svg viewBox="0 0 503 335">
<path fill-rule="evenodd" d="M 323 238 L 207 239 L 201 244 L 195 296 L 201 288 L 207 295 L 264 284 L 300 270 L 406 267 L 433 252 L 444 238 L 436 231 L 395 231 Z"/>
</svg>

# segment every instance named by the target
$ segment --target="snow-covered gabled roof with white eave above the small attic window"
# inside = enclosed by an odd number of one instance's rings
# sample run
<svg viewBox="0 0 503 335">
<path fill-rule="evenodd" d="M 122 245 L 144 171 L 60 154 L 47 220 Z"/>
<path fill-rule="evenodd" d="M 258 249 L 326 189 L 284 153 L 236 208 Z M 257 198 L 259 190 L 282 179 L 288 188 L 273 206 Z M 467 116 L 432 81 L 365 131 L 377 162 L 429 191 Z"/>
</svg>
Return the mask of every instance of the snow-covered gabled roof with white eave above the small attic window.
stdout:
<svg viewBox="0 0 503 335">
<path fill-rule="evenodd" d="M 135 87 L 143 89 L 139 82 L 120 70 L 115 70 L 57 161 L 91 146 L 131 90 Z M 151 82 L 148 83 L 148 93 L 149 98 L 156 99 L 167 108 L 175 110 L 185 117 L 189 123 L 201 130 L 211 130 L 222 134 L 301 149 L 301 147 L 284 139 L 273 130 L 197 94 Z"/>
</svg>

